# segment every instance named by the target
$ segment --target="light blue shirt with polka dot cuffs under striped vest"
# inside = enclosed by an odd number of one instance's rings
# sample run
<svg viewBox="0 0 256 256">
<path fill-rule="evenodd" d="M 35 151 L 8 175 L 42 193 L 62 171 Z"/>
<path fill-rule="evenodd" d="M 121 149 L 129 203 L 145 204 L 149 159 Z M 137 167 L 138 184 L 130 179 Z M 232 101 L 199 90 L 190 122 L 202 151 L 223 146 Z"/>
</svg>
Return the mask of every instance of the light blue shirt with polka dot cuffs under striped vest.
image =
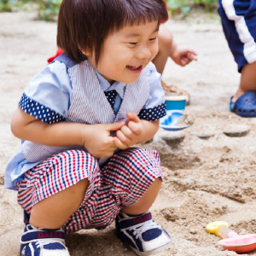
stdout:
<svg viewBox="0 0 256 256">
<path fill-rule="evenodd" d="M 65 55 L 64 55 L 65 58 Z M 63 59 L 63 56 L 62 56 Z M 160 73 L 157 73 L 154 64 L 149 63 L 149 96 L 148 101 L 139 113 L 141 119 L 155 120 L 166 114 L 164 90 L 160 84 Z M 109 84 L 100 73 L 96 72 L 99 83 L 104 92 L 116 90 L 117 96 L 113 104 L 114 113 L 117 113 L 125 93 L 126 84 L 115 81 Z M 30 113 L 42 121 L 53 124 L 67 118 L 71 105 L 73 87 L 68 75 L 67 65 L 63 61 L 54 61 L 38 73 L 29 84 L 20 99 L 19 106 L 26 113 Z M 150 113 L 150 114 L 148 114 Z M 153 115 L 151 113 L 154 113 Z M 23 143 L 21 141 L 21 143 Z M 15 189 L 15 181 L 22 179 L 22 174 L 38 162 L 29 162 L 21 151 L 9 160 L 5 172 L 5 187 Z"/>
</svg>

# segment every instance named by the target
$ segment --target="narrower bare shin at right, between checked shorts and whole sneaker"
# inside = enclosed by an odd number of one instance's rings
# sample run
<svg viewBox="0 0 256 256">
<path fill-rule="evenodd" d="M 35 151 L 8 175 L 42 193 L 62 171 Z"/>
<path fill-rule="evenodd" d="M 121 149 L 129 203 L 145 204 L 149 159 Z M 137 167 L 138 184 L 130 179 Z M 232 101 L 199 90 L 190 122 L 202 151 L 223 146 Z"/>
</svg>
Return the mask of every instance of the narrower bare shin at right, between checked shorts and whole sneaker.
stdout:
<svg viewBox="0 0 256 256">
<path fill-rule="evenodd" d="M 148 209 L 153 205 L 156 196 L 160 191 L 161 183 L 162 180 L 158 177 L 139 201 L 137 201 L 132 207 L 123 207 L 122 212 L 132 215 L 148 212 Z"/>
</svg>

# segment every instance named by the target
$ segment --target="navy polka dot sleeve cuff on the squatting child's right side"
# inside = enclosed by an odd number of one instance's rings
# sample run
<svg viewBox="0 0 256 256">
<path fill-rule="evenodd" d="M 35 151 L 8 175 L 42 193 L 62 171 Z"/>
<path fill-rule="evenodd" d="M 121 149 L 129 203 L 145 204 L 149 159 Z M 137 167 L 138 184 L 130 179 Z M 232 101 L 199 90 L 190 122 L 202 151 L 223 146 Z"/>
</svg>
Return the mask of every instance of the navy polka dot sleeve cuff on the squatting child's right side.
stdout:
<svg viewBox="0 0 256 256">
<path fill-rule="evenodd" d="M 162 103 L 154 108 L 143 108 L 138 114 L 140 119 L 155 121 L 166 115 L 166 103 Z"/>
</svg>

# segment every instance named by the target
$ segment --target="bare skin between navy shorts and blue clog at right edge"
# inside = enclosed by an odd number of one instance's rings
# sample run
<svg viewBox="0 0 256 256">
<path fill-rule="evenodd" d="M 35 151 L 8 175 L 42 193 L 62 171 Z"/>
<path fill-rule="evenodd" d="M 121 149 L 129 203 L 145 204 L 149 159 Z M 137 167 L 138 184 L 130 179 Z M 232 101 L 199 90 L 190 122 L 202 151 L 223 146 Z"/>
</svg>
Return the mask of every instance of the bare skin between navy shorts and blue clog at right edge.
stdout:
<svg viewBox="0 0 256 256">
<path fill-rule="evenodd" d="M 256 61 L 242 67 L 239 88 L 232 98 L 232 102 L 236 102 L 248 90 L 256 90 Z"/>
</svg>

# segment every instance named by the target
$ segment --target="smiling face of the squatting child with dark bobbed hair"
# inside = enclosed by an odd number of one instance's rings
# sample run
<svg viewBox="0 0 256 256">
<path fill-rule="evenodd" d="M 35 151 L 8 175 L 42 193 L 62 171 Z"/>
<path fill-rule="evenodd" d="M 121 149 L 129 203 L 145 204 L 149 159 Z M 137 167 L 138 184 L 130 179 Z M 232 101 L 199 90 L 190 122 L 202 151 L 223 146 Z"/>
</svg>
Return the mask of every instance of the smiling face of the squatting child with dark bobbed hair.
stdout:
<svg viewBox="0 0 256 256">
<path fill-rule="evenodd" d="M 158 21 L 124 26 L 105 39 L 97 65 L 95 55 L 87 58 L 109 83 L 134 83 L 158 52 L 158 28 Z"/>
</svg>

